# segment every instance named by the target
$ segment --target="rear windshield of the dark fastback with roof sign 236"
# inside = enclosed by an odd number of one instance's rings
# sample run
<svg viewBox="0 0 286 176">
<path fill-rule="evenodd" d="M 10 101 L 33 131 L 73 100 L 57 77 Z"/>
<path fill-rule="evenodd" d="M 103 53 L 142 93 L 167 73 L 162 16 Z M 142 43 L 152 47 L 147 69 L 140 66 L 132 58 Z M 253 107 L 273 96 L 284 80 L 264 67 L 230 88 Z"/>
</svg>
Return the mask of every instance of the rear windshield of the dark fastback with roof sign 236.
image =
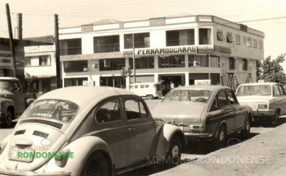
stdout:
<svg viewBox="0 0 286 176">
<path fill-rule="evenodd" d="M 211 90 L 206 89 L 186 89 L 172 90 L 162 102 L 202 102 L 206 103 L 211 95 Z"/>
</svg>

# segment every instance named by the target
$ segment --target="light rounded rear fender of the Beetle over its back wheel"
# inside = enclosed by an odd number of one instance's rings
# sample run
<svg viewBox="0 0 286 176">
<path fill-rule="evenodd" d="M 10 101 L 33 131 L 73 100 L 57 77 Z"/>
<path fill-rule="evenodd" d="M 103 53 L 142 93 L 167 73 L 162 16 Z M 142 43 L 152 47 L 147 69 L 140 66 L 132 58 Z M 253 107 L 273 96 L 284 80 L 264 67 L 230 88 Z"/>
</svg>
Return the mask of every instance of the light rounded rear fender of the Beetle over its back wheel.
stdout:
<svg viewBox="0 0 286 176">
<path fill-rule="evenodd" d="M 112 163 L 111 168 L 113 166 L 113 157 L 108 144 L 99 137 L 81 137 L 62 148 L 62 150 L 65 149 L 70 149 L 70 152 L 73 152 L 73 158 L 68 158 L 63 167 L 57 166 L 55 158 L 51 158 L 44 168 L 45 172 L 71 172 L 71 175 L 80 175 L 86 160 L 95 151 L 103 151 L 108 154 Z"/>
</svg>

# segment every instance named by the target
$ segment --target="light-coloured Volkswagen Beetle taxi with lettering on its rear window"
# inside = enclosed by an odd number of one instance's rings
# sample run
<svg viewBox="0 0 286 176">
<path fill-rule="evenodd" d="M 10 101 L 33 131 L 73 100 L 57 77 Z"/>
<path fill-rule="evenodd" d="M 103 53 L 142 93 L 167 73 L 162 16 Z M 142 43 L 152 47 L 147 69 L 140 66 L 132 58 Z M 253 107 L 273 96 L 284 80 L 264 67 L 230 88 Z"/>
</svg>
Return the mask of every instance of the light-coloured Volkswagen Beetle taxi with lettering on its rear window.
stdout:
<svg viewBox="0 0 286 176">
<path fill-rule="evenodd" d="M 159 162 L 157 156 L 179 161 L 185 145 L 180 128 L 154 121 L 128 90 L 67 87 L 24 112 L 1 143 L 0 174 L 112 175 L 147 165 L 148 158 Z"/>
</svg>

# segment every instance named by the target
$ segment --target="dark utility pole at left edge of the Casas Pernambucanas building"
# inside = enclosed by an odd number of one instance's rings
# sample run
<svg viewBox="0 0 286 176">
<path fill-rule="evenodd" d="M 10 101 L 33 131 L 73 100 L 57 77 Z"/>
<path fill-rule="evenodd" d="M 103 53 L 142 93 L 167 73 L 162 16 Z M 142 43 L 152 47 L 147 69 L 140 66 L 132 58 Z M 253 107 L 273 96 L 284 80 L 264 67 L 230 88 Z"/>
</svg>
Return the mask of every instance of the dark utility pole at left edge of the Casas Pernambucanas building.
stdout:
<svg viewBox="0 0 286 176">
<path fill-rule="evenodd" d="M 57 88 L 61 88 L 61 70 L 60 70 L 60 43 L 59 43 L 59 21 L 58 15 L 55 14 L 55 45 L 56 45 L 56 73 L 57 73 Z"/>
</svg>

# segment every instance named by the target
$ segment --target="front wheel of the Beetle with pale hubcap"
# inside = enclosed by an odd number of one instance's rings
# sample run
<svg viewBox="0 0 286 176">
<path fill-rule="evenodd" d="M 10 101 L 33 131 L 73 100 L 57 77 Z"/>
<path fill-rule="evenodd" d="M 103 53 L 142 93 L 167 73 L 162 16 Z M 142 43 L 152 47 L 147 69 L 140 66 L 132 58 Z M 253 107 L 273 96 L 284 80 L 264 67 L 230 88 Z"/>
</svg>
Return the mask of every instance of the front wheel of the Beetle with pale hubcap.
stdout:
<svg viewBox="0 0 286 176">
<path fill-rule="evenodd" d="M 182 144 L 177 135 L 173 136 L 171 142 L 170 142 L 170 147 L 168 151 L 168 155 L 165 158 L 167 161 L 170 157 L 170 165 L 177 165 L 181 161 L 181 155 L 182 155 Z"/>
</svg>

